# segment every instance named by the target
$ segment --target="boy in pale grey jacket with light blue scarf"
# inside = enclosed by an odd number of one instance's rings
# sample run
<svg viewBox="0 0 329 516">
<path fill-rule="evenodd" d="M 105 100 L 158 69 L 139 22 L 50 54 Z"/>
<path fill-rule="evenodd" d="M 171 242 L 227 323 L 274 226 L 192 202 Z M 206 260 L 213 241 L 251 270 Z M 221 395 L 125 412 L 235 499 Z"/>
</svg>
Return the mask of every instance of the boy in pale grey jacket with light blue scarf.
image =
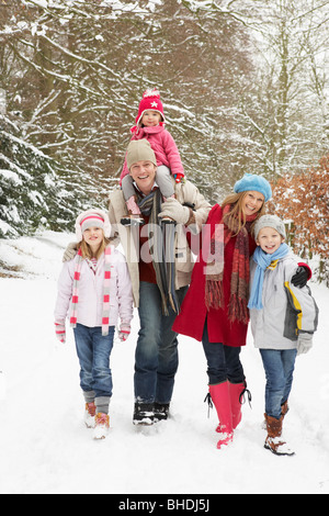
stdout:
<svg viewBox="0 0 329 516">
<path fill-rule="evenodd" d="M 285 227 L 275 215 L 263 215 L 254 225 L 258 244 L 250 263 L 249 300 L 251 332 L 260 349 L 265 375 L 264 447 L 275 455 L 294 455 L 281 438 L 288 411 L 297 354 L 307 352 L 318 324 L 318 307 L 309 288 L 296 288 L 291 279 L 298 263 L 284 244 Z"/>
</svg>

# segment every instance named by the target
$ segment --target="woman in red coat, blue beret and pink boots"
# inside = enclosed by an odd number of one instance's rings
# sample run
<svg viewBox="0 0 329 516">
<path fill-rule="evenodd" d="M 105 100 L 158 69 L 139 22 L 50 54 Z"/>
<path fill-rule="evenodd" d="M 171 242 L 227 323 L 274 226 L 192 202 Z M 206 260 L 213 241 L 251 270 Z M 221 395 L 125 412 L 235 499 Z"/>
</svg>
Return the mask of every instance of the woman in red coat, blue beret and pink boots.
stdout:
<svg viewBox="0 0 329 516">
<path fill-rule="evenodd" d="M 256 249 L 251 227 L 271 197 L 264 178 L 247 173 L 222 206 L 212 209 L 202 253 L 173 325 L 174 332 L 203 343 L 209 396 L 219 418 L 217 448 L 232 440 L 241 420 L 246 380 L 239 355 L 249 321 L 249 259 Z"/>
</svg>

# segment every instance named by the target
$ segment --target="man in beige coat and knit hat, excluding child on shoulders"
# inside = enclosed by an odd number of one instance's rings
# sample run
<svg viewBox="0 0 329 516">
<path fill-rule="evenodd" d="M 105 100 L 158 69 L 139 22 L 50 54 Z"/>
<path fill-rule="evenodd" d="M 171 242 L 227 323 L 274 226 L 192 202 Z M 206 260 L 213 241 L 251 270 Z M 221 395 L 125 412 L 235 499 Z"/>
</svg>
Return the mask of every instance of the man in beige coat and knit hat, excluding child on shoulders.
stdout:
<svg viewBox="0 0 329 516">
<path fill-rule="evenodd" d="M 175 198 L 163 202 L 156 184 L 156 156 L 146 139 L 131 142 L 127 166 L 145 224 L 121 224 L 128 214 L 122 190 L 111 193 L 109 215 L 114 243 L 122 244 L 126 256 L 140 319 L 133 422 L 151 425 L 168 417 L 178 370 L 178 339 L 171 326 L 193 269 L 186 233 L 202 231 L 211 204 L 190 181 L 177 184 L 173 179 Z"/>
</svg>

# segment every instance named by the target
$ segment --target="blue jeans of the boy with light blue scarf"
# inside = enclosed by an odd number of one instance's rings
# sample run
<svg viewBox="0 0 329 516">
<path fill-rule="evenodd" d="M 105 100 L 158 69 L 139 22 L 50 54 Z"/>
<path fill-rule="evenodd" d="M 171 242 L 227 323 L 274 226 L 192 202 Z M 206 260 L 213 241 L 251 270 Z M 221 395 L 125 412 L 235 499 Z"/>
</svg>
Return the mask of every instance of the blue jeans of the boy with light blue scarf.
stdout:
<svg viewBox="0 0 329 516">
<path fill-rule="evenodd" d="M 265 375 L 265 413 L 280 419 L 281 405 L 285 403 L 292 390 L 296 349 L 260 349 Z"/>
</svg>

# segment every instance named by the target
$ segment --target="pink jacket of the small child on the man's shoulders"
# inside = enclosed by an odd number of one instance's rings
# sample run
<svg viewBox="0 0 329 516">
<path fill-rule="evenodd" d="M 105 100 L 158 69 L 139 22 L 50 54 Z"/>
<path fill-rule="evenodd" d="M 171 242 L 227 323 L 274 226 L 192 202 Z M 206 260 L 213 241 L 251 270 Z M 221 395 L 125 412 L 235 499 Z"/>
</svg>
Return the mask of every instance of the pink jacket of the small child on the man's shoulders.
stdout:
<svg viewBox="0 0 329 516">
<path fill-rule="evenodd" d="M 156 127 L 138 127 L 136 128 L 132 139 L 147 139 L 155 152 L 158 167 L 166 165 L 170 168 L 172 176 L 174 173 L 182 173 L 184 169 L 181 161 L 179 149 L 174 143 L 171 134 L 163 127 L 157 125 Z M 124 167 L 120 177 L 120 182 L 129 173 L 127 161 L 125 159 Z"/>
</svg>

